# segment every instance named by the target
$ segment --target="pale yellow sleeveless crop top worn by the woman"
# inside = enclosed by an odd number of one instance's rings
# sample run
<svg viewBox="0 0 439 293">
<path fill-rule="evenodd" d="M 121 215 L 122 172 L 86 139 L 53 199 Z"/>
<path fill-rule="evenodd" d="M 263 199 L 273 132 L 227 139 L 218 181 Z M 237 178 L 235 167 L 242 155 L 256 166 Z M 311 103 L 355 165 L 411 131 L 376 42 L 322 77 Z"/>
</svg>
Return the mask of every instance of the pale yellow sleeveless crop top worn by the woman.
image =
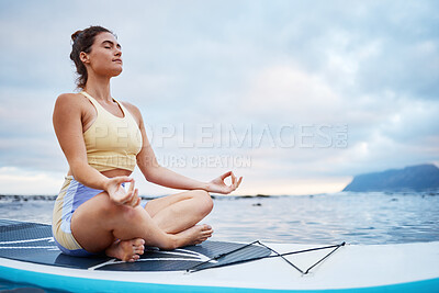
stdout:
<svg viewBox="0 0 439 293">
<path fill-rule="evenodd" d="M 98 171 L 134 171 L 136 156 L 142 149 L 142 133 L 130 111 L 114 100 L 124 114 L 117 117 L 87 92 L 82 91 L 81 94 L 90 100 L 98 112 L 93 124 L 83 133 L 89 165 Z"/>
</svg>

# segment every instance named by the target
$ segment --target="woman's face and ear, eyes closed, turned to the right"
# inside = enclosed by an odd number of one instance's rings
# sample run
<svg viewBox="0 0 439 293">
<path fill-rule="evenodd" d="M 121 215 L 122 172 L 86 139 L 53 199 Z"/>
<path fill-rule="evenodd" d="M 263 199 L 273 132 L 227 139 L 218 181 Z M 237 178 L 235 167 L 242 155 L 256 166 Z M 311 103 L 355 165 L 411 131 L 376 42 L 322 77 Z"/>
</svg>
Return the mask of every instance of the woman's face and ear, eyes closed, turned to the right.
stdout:
<svg viewBox="0 0 439 293">
<path fill-rule="evenodd" d="M 89 54 L 81 52 L 81 60 L 87 70 L 97 75 L 116 77 L 122 72 L 122 50 L 115 36 L 111 33 L 100 33 L 94 37 Z"/>
</svg>

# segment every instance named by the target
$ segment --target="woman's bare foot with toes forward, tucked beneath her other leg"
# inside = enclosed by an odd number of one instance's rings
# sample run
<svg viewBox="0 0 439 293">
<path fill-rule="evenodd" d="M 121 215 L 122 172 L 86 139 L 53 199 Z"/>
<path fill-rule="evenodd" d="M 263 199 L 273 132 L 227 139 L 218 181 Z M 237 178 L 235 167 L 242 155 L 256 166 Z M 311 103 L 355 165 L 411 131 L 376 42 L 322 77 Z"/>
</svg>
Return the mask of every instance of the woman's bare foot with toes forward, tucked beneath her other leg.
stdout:
<svg viewBox="0 0 439 293">
<path fill-rule="evenodd" d="M 123 241 L 116 240 L 105 249 L 105 255 L 111 258 L 133 262 L 140 258 L 139 255 L 144 253 L 144 244 L 145 240 L 142 238 Z"/>
</svg>

